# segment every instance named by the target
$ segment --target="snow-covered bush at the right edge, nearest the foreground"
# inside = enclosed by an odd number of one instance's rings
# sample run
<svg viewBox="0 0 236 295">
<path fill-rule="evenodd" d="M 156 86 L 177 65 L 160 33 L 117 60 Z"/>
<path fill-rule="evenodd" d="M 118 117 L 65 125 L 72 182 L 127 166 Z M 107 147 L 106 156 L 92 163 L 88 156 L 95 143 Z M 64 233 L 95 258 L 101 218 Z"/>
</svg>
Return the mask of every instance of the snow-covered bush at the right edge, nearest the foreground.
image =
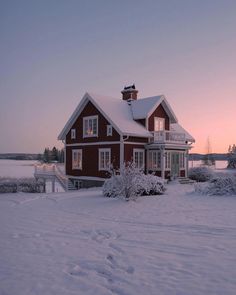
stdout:
<svg viewBox="0 0 236 295">
<path fill-rule="evenodd" d="M 216 175 L 204 185 L 196 184 L 195 191 L 208 196 L 236 195 L 236 176 Z"/>
</svg>

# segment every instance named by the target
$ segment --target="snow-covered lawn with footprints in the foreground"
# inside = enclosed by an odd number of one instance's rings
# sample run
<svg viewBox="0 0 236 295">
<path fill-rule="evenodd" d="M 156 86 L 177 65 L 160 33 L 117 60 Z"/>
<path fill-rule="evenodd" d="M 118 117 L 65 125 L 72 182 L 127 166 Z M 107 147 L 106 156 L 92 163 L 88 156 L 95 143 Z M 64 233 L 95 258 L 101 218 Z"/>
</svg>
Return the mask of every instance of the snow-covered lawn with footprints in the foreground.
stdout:
<svg viewBox="0 0 236 295">
<path fill-rule="evenodd" d="M 236 197 L 0 195 L 1 295 L 235 295 Z"/>
</svg>

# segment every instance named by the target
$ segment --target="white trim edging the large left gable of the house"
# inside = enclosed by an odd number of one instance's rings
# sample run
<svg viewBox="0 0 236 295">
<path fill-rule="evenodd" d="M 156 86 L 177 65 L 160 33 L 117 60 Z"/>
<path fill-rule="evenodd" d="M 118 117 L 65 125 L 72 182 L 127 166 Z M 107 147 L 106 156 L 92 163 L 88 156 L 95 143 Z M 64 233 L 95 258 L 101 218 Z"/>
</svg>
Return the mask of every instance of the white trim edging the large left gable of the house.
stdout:
<svg viewBox="0 0 236 295">
<path fill-rule="evenodd" d="M 58 136 L 59 140 L 63 140 L 66 137 L 66 134 L 69 132 L 70 128 L 73 126 L 74 122 L 76 119 L 79 117 L 81 114 L 82 110 L 86 106 L 88 102 L 91 102 L 96 109 L 104 116 L 104 118 L 112 125 L 112 127 L 119 133 L 119 135 L 122 135 L 121 130 L 114 124 L 114 122 L 108 118 L 108 116 L 104 113 L 104 111 L 99 107 L 99 105 L 94 101 L 94 99 L 86 92 L 85 95 L 83 96 L 82 100 L 78 104 L 77 108 L 75 111 L 72 113 L 70 119 L 67 121 L 65 127 L 62 129 L 61 133 Z"/>
</svg>

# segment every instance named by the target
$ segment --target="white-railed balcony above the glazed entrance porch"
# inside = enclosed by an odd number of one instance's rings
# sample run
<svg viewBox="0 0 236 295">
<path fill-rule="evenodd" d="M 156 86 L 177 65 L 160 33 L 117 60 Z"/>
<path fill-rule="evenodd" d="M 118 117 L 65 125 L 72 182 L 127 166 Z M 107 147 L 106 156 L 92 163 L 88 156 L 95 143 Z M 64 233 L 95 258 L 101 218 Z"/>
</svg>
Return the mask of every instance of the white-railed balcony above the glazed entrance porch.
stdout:
<svg viewBox="0 0 236 295">
<path fill-rule="evenodd" d="M 186 143 L 185 133 L 163 130 L 153 132 L 153 138 L 151 139 L 152 143 Z"/>
</svg>

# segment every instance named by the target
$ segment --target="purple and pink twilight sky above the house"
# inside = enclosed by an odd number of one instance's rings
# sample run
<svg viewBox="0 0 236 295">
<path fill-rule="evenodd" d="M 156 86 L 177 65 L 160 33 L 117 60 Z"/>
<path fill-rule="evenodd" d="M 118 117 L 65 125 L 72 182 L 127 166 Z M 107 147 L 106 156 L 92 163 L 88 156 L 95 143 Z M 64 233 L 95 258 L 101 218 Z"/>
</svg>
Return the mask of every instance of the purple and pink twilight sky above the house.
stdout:
<svg viewBox="0 0 236 295">
<path fill-rule="evenodd" d="M 236 1 L 1 1 L 0 152 L 42 152 L 86 91 L 164 94 L 192 152 L 236 143 Z"/>
</svg>

